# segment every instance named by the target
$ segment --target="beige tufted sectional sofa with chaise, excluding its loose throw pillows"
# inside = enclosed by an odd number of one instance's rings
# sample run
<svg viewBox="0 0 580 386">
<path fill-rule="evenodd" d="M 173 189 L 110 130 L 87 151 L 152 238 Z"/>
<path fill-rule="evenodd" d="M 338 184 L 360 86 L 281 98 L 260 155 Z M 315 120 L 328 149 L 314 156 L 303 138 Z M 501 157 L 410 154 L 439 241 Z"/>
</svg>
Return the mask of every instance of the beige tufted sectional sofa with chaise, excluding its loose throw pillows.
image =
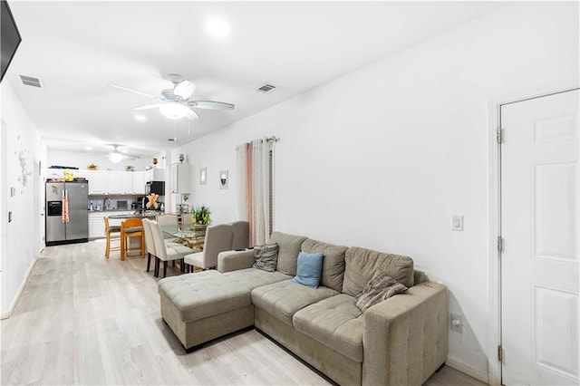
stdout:
<svg viewBox="0 0 580 386">
<path fill-rule="evenodd" d="M 420 385 L 447 358 L 448 294 L 411 257 L 275 232 L 275 272 L 254 251 L 228 251 L 217 271 L 160 280 L 161 316 L 186 350 L 255 325 L 340 384 Z M 324 254 L 320 285 L 292 282 L 300 252 Z M 357 294 L 380 269 L 409 289 L 362 313 Z"/>
</svg>

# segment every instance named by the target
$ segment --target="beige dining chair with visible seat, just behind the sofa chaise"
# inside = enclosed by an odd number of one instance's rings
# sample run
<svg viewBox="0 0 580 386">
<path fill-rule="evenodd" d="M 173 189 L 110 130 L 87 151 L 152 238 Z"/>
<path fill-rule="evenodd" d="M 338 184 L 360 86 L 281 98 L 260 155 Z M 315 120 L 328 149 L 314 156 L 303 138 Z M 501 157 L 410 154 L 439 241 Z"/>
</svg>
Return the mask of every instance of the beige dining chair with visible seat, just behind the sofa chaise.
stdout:
<svg viewBox="0 0 580 386">
<path fill-rule="evenodd" d="M 231 249 L 232 228 L 233 226 L 231 224 L 219 224 L 208 227 L 203 252 L 186 255 L 183 258 L 183 261 L 188 266 L 186 271 L 190 271 L 189 265 L 198 266 L 204 270 L 217 266 L 219 253 Z"/>
</svg>

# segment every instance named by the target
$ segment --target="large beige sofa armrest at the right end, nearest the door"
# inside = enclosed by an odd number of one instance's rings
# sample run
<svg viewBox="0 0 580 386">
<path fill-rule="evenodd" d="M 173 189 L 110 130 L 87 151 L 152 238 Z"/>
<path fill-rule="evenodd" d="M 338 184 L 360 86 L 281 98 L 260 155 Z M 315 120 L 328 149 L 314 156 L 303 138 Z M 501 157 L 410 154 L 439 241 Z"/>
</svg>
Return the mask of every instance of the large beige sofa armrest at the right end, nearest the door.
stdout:
<svg viewBox="0 0 580 386">
<path fill-rule="evenodd" d="M 447 360 L 447 287 L 414 285 L 364 313 L 362 384 L 420 385 Z"/>
</svg>

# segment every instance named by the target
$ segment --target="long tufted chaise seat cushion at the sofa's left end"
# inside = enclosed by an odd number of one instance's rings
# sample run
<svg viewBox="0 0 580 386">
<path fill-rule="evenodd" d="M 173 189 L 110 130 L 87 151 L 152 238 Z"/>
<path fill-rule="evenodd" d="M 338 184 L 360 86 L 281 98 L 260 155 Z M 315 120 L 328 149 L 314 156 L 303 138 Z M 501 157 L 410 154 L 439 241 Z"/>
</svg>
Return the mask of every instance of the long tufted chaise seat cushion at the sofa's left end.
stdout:
<svg viewBox="0 0 580 386">
<path fill-rule="evenodd" d="M 255 268 L 225 274 L 204 271 L 166 277 L 160 280 L 158 288 L 159 293 L 166 294 L 179 309 L 179 318 L 190 322 L 245 307 L 251 304 L 250 293 L 256 286 L 290 278 L 279 272 Z"/>
</svg>

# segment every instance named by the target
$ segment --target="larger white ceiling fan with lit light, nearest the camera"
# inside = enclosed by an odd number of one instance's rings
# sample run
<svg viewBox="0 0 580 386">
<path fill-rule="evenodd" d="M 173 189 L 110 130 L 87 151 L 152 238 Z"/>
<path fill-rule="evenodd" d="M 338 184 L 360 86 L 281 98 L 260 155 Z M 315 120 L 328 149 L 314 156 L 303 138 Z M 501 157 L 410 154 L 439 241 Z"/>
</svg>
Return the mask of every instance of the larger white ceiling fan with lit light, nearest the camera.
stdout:
<svg viewBox="0 0 580 386">
<path fill-rule="evenodd" d="M 161 95 L 152 95 L 147 92 L 139 92 L 127 87 L 119 86 L 117 84 L 109 84 L 115 89 L 124 90 L 126 92 L 133 92 L 139 95 L 147 96 L 160 100 L 160 103 L 148 104 L 146 106 L 136 107 L 133 110 L 149 110 L 160 109 L 163 116 L 172 120 L 179 120 L 181 118 L 188 118 L 189 120 L 197 120 L 199 115 L 194 109 L 208 109 L 208 110 L 234 110 L 232 103 L 223 101 L 190 101 L 189 98 L 193 96 L 196 91 L 196 85 L 189 82 L 177 73 L 169 73 L 167 75 L 169 82 L 173 83 L 172 89 L 161 91 Z"/>
</svg>

